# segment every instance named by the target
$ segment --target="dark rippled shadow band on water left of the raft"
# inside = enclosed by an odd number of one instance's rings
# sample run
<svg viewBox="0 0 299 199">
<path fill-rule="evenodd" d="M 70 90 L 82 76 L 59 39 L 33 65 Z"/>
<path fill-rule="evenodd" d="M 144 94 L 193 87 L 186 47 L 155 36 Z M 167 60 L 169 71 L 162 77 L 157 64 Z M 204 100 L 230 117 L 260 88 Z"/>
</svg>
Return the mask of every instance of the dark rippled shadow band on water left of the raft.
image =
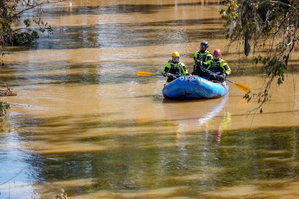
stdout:
<svg viewBox="0 0 299 199">
<path fill-rule="evenodd" d="M 53 61 L 43 64 L 41 67 L 26 68 L 23 65 L 13 65 L 7 68 L 3 67 L 5 76 L 1 77 L 4 82 L 10 82 L 10 86 L 24 85 L 44 85 L 44 84 L 66 84 L 66 83 L 84 83 L 84 84 L 121 84 L 121 83 L 144 83 L 155 79 L 155 77 L 140 78 L 132 68 L 138 68 L 137 63 L 118 63 L 123 69 L 128 68 L 126 72 L 106 73 L 115 67 L 114 63 L 100 64 L 91 63 L 84 65 L 59 65 L 54 68 Z M 6 70 L 6 68 L 8 70 Z M 23 68 L 23 71 L 20 71 Z M 78 71 L 80 69 L 81 71 Z M 32 70 L 32 72 L 30 72 Z M 74 73 L 73 73 L 74 72 Z M 51 75 L 48 75 L 51 73 Z"/>
</svg>

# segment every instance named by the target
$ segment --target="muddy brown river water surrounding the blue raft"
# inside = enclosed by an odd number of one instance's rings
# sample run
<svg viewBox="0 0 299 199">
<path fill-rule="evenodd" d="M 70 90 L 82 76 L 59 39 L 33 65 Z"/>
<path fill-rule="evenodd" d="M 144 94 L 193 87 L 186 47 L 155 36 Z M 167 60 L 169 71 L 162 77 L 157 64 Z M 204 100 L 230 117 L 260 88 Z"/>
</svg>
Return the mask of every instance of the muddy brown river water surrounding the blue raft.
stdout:
<svg viewBox="0 0 299 199">
<path fill-rule="evenodd" d="M 46 6 L 54 35 L 6 54 L 16 104 L 0 121 L 3 198 L 295 198 L 297 74 L 263 114 L 230 84 L 219 99 L 169 100 L 160 73 L 176 50 L 189 71 L 202 40 L 225 49 L 218 0 L 68 1 Z M 17 26 L 17 25 L 16 25 Z M 6 48 L 12 51 L 12 48 Z M 295 52 L 296 53 L 296 52 Z M 261 85 L 224 53 L 229 79 Z M 292 58 L 294 61 L 294 57 Z M 247 76 L 244 76 L 247 74 Z M 243 75 L 243 76 L 242 76 Z"/>
</svg>

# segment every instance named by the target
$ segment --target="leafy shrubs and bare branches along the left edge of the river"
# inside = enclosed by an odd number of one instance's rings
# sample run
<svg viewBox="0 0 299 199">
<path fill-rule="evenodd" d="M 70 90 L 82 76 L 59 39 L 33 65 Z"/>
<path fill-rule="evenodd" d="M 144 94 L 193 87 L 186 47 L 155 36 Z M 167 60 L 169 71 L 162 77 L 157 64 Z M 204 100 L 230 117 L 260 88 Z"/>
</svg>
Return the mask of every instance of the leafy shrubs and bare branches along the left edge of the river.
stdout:
<svg viewBox="0 0 299 199">
<path fill-rule="evenodd" d="M 31 25 L 36 24 L 39 26 L 40 32 L 53 33 L 51 25 L 41 20 L 43 4 L 56 3 L 60 1 L 25 1 L 25 0 L 7 0 L 0 1 L 0 64 L 4 65 L 1 58 L 5 55 L 3 50 L 4 45 L 29 45 L 36 39 L 39 39 L 39 33 L 31 29 Z M 28 16 L 28 17 L 26 17 Z M 20 22 L 23 24 L 21 28 L 13 29 L 12 24 Z M 3 82 L 4 83 L 4 82 Z M 4 83 L 6 88 L 0 88 L 0 96 L 16 95 L 11 91 L 11 88 Z M 6 113 L 10 105 L 0 100 L 0 116 Z"/>
</svg>

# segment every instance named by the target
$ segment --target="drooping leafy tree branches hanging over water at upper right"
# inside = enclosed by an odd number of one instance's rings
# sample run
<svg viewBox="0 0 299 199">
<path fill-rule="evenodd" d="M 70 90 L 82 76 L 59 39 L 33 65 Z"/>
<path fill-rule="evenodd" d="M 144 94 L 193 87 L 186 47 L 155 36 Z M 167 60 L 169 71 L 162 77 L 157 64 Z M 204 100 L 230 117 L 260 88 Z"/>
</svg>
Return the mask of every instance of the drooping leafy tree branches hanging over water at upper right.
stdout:
<svg viewBox="0 0 299 199">
<path fill-rule="evenodd" d="M 283 83 L 291 53 L 299 42 L 299 2 L 226 0 L 225 3 L 220 13 L 224 27 L 228 27 L 229 45 L 237 43 L 240 48 L 243 44 L 245 55 L 253 53 L 252 61 L 262 67 L 261 89 L 244 96 L 248 102 L 252 97 L 257 98 L 260 105 L 254 110 L 262 113 L 262 105 L 271 99 L 271 85 L 275 81 L 278 85 Z"/>
</svg>

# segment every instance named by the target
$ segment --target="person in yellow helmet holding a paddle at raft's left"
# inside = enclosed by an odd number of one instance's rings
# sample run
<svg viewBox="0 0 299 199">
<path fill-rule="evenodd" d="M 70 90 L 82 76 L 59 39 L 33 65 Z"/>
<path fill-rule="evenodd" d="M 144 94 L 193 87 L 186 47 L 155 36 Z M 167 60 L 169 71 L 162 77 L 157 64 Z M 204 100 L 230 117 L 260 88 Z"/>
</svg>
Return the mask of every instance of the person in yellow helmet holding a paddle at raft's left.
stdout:
<svg viewBox="0 0 299 199">
<path fill-rule="evenodd" d="M 175 51 L 172 53 L 172 59 L 165 65 L 162 74 L 166 74 L 168 77 L 167 82 L 172 82 L 177 78 L 177 76 L 171 75 L 189 75 L 184 63 L 179 61 L 179 59 L 180 54 Z"/>
</svg>

